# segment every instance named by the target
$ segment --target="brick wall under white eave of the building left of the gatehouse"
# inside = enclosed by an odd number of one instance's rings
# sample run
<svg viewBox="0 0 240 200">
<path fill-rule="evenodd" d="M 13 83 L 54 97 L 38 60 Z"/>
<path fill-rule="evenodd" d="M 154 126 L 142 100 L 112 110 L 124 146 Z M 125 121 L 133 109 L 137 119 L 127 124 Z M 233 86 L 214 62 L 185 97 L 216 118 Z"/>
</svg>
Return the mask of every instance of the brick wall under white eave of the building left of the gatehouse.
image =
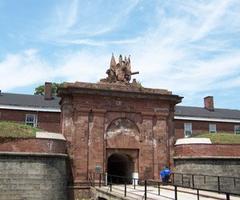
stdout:
<svg viewBox="0 0 240 200">
<path fill-rule="evenodd" d="M 38 128 L 49 132 L 60 132 L 60 113 L 0 109 L 0 120 L 25 123 L 26 114 L 37 115 Z"/>
</svg>

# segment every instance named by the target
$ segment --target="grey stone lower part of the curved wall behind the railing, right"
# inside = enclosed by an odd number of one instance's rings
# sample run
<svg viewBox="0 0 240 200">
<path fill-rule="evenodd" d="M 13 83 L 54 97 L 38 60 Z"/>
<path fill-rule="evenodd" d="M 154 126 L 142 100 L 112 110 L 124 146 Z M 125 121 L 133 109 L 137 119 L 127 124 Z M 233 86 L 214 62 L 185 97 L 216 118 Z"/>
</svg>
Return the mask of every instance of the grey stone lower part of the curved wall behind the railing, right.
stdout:
<svg viewBox="0 0 240 200">
<path fill-rule="evenodd" d="M 175 158 L 175 184 L 240 194 L 240 158 Z M 208 175 L 208 176 L 202 176 Z M 237 177 L 237 178 L 232 178 Z M 218 179 L 219 185 L 218 186 Z"/>
</svg>

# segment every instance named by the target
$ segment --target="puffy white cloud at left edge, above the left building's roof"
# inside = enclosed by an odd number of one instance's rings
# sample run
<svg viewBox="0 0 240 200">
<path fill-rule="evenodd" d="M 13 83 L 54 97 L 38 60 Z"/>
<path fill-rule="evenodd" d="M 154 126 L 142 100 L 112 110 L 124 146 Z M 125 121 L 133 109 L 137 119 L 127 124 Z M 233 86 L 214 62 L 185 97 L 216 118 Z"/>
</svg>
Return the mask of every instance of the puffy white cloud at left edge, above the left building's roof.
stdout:
<svg viewBox="0 0 240 200">
<path fill-rule="evenodd" d="M 3 91 L 44 82 L 54 76 L 53 69 L 38 56 L 35 49 L 8 54 L 0 61 L 0 71 L 0 88 Z"/>
</svg>

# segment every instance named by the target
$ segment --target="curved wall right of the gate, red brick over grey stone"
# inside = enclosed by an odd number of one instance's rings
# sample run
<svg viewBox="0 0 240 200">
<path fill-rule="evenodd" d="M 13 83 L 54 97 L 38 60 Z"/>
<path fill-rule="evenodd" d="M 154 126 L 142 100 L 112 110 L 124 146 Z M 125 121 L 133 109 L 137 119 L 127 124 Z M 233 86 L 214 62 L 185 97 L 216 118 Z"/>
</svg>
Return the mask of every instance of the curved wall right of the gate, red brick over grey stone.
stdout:
<svg viewBox="0 0 240 200">
<path fill-rule="evenodd" d="M 196 188 L 240 194 L 239 150 L 240 145 L 229 144 L 177 145 L 174 171 L 186 175 L 176 175 L 175 182 L 183 186 L 194 185 Z M 193 180 L 191 174 L 199 176 Z"/>
</svg>

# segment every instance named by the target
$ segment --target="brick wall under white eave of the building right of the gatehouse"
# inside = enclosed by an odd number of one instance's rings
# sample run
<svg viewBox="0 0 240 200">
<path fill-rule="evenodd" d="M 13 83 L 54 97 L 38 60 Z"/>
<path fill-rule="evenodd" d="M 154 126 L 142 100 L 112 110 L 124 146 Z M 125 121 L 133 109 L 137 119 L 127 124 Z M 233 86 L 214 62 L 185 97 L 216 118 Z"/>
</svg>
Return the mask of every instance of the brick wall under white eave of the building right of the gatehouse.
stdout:
<svg viewBox="0 0 240 200">
<path fill-rule="evenodd" d="M 187 121 L 187 120 L 174 120 L 175 122 L 175 136 L 176 139 L 184 137 L 184 123 L 192 123 L 192 133 L 197 135 L 199 133 L 208 132 L 209 124 L 216 124 L 217 132 L 234 133 L 234 125 L 236 123 L 226 122 L 206 122 L 206 121 Z"/>
</svg>

